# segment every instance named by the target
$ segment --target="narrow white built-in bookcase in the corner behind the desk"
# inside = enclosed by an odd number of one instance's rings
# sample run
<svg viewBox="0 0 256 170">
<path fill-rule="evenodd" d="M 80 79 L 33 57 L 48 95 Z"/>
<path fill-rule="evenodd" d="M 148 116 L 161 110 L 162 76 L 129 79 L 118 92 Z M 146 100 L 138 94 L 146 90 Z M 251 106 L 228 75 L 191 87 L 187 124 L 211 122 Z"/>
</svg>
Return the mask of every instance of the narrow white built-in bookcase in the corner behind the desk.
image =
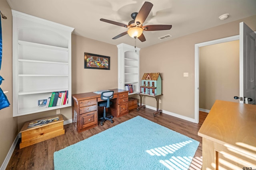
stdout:
<svg viewBox="0 0 256 170">
<path fill-rule="evenodd" d="M 140 90 L 140 48 L 121 43 L 118 47 L 118 88 L 125 90 L 126 84 L 132 84 L 133 93 Z M 135 51 L 136 50 L 136 51 Z"/>
</svg>

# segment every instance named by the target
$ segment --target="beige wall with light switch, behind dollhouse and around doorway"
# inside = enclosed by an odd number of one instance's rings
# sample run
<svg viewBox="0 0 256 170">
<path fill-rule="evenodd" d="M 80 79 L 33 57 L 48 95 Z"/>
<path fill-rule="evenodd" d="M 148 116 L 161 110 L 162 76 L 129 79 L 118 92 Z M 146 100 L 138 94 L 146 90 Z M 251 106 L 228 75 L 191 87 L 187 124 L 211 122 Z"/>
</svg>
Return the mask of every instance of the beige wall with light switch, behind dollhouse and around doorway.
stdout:
<svg viewBox="0 0 256 170">
<path fill-rule="evenodd" d="M 252 16 L 140 50 L 140 77 L 145 72 L 161 73 L 164 95 L 160 109 L 194 119 L 195 44 L 238 35 L 241 21 L 256 30 L 256 16 Z M 189 76 L 183 77 L 183 72 Z M 143 98 L 142 102 L 156 107 L 154 98 Z"/>
</svg>

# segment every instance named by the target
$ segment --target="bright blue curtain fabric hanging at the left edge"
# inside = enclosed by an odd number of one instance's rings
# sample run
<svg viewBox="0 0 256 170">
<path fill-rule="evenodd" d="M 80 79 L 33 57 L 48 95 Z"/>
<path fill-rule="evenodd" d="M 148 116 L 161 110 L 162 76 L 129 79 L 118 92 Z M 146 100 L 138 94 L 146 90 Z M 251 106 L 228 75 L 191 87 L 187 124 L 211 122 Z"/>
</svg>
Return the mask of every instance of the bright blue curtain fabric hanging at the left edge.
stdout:
<svg viewBox="0 0 256 170">
<path fill-rule="evenodd" d="M 2 65 L 2 23 L 1 23 L 1 18 L 0 18 L 0 70 L 1 70 L 1 65 Z M 2 84 L 2 76 L 0 76 L 0 85 Z M 0 88 L 0 109 L 3 109 L 5 107 L 10 106 L 10 103 L 4 94 L 3 90 Z"/>
</svg>

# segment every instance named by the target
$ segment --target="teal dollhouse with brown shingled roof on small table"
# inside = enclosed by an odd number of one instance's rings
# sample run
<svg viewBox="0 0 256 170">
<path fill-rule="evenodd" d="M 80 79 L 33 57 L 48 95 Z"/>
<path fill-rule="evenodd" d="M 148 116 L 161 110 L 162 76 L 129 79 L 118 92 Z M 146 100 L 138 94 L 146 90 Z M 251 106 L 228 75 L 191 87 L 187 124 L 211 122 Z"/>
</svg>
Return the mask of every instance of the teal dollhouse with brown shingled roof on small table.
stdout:
<svg viewBox="0 0 256 170">
<path fill-rule="evenodd" d="M 162 78 L 160 72 L 144 73 L 142 77 L 142 86 L 140 86 L 141 94 L 148 94 L 152 96 L 162 94 Z"/>
</svg>

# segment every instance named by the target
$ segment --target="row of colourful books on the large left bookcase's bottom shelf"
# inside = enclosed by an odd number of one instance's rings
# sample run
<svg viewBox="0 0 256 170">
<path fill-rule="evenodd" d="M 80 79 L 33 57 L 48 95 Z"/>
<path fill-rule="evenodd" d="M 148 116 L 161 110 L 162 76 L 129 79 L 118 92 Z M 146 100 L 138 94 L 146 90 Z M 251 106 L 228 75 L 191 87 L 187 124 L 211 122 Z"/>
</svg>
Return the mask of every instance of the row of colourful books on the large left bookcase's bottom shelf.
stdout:
<svg viewBox="0 0 256 170">
<path fill-rule="evenodd" d="M 47 99 L 45 107 L 54 107 L 68 104 L 68 90 L 62 92 L 52 92 Z"/>
</svg>

